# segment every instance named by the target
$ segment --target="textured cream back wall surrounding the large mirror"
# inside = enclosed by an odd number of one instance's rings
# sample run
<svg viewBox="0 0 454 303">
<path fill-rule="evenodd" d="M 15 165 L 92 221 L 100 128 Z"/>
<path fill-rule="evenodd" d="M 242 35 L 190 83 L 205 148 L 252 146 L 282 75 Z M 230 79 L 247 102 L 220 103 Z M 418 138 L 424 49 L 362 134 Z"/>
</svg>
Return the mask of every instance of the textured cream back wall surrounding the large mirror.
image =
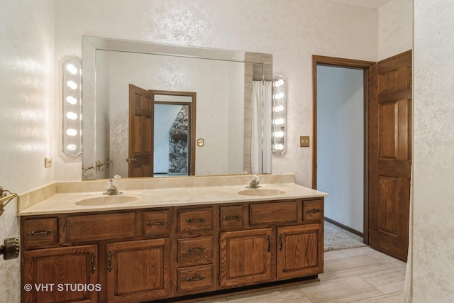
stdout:
<svg viewBox="0 0 454 303">
<path fill-rule="evenodd" d="M 299 136 L 311 135 L 311 55 L 377 60 L 377 10 L 326 0 L 59 0 L 56 6 L 57 64 L 80 57 L 82 35 L 272 53 L 274 74 L 287 78 L 289 107 L 288 147 L 273 158 L 273 172 L 295 172 L 306 186 L 311 148 L 299 148 Z M 81 179 L 80 159 L 60 148 L 56 169 L 56 180 Z"/>
</svg>

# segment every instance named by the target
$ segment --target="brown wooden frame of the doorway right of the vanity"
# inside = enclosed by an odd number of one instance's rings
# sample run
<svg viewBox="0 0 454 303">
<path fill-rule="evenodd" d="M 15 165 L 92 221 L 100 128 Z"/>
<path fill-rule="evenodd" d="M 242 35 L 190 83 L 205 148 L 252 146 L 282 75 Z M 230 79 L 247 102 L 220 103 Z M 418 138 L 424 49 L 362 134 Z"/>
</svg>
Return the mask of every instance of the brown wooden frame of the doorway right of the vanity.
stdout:
<svg viewBox="0 0 454 303">
<path fill-rule="evenodd" d="M 330 67 L 345 67 L 363 71 L 364 87 L 364 219 L 362 238 L 365 244 L 369 243 L 369 199 L 368 199 L 368 99 L 369 99 L 369 67 L 376 62 L 344 59 L 339 57 L 327 57 L 312 55 L 312 188 L 317 189 L 317 65 Z"/>
</svg>

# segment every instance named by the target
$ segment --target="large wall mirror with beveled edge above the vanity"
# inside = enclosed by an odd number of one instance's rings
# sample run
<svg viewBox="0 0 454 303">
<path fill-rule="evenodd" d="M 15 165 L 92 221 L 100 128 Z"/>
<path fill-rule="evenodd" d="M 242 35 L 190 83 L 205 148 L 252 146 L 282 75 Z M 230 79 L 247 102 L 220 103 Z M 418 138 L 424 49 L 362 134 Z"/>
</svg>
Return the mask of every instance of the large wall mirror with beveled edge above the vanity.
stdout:
<svg viewBox="0 0 454 303">
<path fill-rule="evenodd" d="M 82 180 L 271 173 L 272 55 L 84 36 L 82 71 Z"/>
</svg>

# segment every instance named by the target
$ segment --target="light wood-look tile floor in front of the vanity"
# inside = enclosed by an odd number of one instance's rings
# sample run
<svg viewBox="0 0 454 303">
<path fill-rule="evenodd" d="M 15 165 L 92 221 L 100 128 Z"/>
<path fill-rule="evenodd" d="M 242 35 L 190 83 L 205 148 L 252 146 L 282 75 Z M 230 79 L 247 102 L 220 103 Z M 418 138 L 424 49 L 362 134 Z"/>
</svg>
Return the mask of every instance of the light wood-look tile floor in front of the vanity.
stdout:
<svg viewBox="0 0 454 303">
<path fill-rule="evenodd" d="M 369 246 L 325 253 L 320 282 L 238 294 L 199 303 L 400 303 L 406 263 Z"/>
</svg>

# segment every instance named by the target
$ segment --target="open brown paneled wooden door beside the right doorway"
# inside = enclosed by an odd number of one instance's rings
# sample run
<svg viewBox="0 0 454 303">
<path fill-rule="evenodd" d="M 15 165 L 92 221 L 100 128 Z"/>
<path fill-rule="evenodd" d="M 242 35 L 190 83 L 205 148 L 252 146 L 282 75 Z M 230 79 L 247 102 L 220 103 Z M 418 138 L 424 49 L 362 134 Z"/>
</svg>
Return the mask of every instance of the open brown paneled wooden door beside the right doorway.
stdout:
<svg viewBox="0 0 454 303">
<path fill-rule="evenodd" d="M 411 51 L 369 70 L 369 245 L 406 260 L 411 176 Z"/>
</svg>

